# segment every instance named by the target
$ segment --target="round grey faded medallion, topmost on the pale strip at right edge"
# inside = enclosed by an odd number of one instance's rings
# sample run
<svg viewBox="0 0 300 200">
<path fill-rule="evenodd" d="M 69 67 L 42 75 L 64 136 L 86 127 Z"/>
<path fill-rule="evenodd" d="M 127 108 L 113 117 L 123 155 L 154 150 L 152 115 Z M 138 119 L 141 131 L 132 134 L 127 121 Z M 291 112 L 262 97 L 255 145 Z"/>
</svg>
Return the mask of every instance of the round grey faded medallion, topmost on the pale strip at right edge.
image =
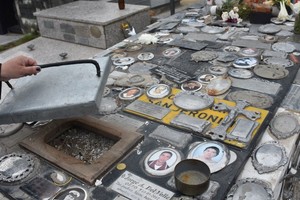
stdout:
<svg viewBox="0 0 300 200">
<path fill-rule="evenodd" d="M 270 131 L 277 139 L 288 138 L 298 133 L 299 130 L 299 121 L 291 113 L 279 113 L 270 122 Z"/>
</svg>

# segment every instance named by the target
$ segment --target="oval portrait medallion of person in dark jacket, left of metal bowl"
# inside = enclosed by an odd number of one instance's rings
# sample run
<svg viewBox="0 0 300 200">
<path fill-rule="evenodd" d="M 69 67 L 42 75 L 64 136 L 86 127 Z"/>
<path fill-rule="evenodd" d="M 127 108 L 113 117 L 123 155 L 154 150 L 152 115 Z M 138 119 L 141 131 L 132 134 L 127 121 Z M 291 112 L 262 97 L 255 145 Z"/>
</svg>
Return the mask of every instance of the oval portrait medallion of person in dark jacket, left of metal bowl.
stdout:
<svg viewBox="0 0 300 200">
<path fill-rule="evenodd" d="M 174 171 L 181 161 L 180 153 L 172 148 L 157 148 L 149 152 L 144 160 L 144 168 L 153 176 L 164 176 Z"/>
</svg>

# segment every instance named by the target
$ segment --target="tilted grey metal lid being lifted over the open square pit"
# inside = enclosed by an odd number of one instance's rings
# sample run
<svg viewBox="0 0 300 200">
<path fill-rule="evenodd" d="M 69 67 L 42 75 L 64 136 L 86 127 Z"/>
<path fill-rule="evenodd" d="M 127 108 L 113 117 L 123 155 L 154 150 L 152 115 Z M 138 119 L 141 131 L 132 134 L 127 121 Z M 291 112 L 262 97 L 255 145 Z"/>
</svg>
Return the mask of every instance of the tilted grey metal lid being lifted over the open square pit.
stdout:
<svg viewBox="0 0 300 200">
<path fill-rule="evenodd" d="M 87 63 L 44 68 L 36 76 L 18 79 L 0 104 L 0 124 L 97 114 L 111 61 L 95 60 L 100 77 Z"/>
</svg>

